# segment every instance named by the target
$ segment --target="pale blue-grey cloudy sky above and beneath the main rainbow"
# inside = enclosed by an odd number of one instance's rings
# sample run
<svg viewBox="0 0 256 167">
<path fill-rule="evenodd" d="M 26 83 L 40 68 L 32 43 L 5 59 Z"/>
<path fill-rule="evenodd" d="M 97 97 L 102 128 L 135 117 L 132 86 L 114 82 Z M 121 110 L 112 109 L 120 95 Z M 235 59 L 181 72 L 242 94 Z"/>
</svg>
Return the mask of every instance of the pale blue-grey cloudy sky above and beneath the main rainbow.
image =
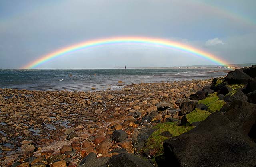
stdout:
<svg viewBox="0 0 256 167">
<path fill-rule="evenodd" d="M 255 0 L 1 0 L 0 69 L 19 69 L 77 43 L 110 37 L 176 41 L 229 63 L 256 63 Z M 169 67 L 216 62 L 146 44 L 102 45 L 39 69 Z"/>
</svg>

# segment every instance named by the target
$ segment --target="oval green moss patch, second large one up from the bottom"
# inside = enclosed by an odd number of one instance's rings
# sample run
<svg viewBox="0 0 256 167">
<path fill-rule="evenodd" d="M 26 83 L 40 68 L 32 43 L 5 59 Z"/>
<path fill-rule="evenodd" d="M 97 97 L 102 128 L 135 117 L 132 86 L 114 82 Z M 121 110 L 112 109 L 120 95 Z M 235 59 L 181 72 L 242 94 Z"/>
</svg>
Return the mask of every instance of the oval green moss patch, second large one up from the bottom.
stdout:
<svg viewBox="0 0 256 167">
<path fill-rule="evenodd" d="M 187 121 L 189 124 L 193 122 L 203 121 L 205 120 L 211 113 L 205 110 L 200 110 L 196 108 L 196 110 L 190 112 L 186 115 Z"/>
</svg>

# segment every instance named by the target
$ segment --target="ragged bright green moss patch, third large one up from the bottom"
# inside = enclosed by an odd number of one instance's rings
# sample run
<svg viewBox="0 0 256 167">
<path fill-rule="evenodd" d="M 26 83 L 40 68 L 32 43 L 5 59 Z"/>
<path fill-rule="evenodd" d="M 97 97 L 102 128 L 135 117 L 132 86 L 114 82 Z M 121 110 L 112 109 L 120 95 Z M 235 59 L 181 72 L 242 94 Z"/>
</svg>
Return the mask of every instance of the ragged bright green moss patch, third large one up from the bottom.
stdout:
<svg viewBox="0 0 256 167">
<path fill-rule="evenodd" d="M 198 104 L 204 104 L 207 106 L 208 112 L 216 112 L 220 111 L 220 109 L 226 104 L 224 100 L 219 100 L 219 97 L 217 96 L 217 92 L 210 94 L 209 97 L 199 100 Z"/>
</svg>

